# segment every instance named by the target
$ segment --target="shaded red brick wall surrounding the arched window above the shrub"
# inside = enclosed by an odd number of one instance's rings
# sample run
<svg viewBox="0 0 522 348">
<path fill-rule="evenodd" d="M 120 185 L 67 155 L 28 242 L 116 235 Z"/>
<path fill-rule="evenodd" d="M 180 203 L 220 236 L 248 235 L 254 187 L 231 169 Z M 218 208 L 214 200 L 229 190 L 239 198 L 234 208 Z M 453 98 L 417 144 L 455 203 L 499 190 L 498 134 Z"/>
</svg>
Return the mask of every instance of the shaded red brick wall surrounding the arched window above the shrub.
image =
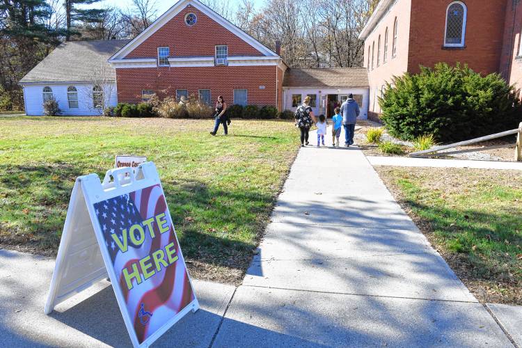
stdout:
<svg viewBox="0 0 522 348">
<path fill-rule="evenodd" d="M 503 46 L 506 0 L 468 0 L 464 49 L 443 49 L 450 0 L 412 1 L 408 71 L 438 62 L 468 63 L 476 72 L 497 72 Z"/>
</svg>

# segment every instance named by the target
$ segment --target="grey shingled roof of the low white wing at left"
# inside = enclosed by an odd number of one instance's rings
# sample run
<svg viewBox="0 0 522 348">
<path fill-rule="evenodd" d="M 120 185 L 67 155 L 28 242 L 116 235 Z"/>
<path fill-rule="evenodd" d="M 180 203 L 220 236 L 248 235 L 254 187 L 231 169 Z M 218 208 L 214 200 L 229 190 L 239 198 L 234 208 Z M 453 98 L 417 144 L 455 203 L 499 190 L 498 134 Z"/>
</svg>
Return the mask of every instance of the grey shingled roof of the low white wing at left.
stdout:
<svg viewBox="0 0 522 348">
<path fill-rule="evenodd" d="M 93 72 L 104 67 L 106 78 L 116 81 L 116 72 L 107 62 L 129 40 L 69 41 L 56 47 L 27 73 L 20 84 L 90 81 Z"/>
</svg>

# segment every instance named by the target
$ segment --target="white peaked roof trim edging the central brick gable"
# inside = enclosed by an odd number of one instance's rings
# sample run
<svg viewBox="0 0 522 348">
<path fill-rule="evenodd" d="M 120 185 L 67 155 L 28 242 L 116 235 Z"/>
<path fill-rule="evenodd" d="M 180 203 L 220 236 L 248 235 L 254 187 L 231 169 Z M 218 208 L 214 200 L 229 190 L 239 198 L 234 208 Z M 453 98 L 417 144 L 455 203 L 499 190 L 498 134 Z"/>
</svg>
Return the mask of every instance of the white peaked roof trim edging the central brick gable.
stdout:
<svg viewBox="0 0 522 348">
<path fill-rule="evenodd" d="M 255 40 L 251 35 L 248 35 L 241 29 L 239 29 L 237 26 L 229 22 L 227 19 L 221 17 L 221 15 L 217 14 L 206 6 L 205 4 L 201 3 L 198 0 L 180 0 L 177 1 L 171 8 L 166 10 L 166 13 L 161 15 L 158 19 L 155 20 L 148 28 L 146 28 L 144 31 L 142 31 L 136 38 L 132 39 L 125 47 L 122 47 L 120 51 L 116 52 L 113 56 L 111 56 L 110 60 L 118 60 L 125 58 L 127 54 L 132 52 L 136 47 L 141 45 L 145 40 L 150 38 L 150 35 L 158 31 L 164 24 L 169 22 L 171 19 L 173 19 L 177 14 L 179 14 L 184 8 L 187 8 L 187 6 L 193 6 L 194 8 L 197 8 L 202 13 L 207 15 L 207 17 L 213 19 L 215 22 L 223 26 L 225 29 L 228 29 L 231 33 L 237 35 L 240 39 L 242 39 L 244 42 L 248 43 L 248 45 L 251 45 L 255 49 L 258 49 L 259 52 L 264 54 L 265 56 L 274 56 L 278 57 L 278 55 L 271 51 L 268 47 L 262 45 L 261 42 L 258 40 Z"/>
</svg>

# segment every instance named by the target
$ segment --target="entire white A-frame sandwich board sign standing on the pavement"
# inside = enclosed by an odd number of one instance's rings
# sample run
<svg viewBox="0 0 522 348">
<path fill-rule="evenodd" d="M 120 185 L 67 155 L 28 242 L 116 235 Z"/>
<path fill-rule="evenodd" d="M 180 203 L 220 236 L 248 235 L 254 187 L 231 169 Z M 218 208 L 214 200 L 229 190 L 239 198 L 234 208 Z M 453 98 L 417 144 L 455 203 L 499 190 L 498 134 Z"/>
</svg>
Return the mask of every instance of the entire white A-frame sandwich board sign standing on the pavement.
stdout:
<svg viewBox="0 0 522 348">
<path fill-rule="evenodd" d="M 199 308 L 152 162 L 77 178 L 45 313 L 107 275 L 134 347 Z"/>
</svg>

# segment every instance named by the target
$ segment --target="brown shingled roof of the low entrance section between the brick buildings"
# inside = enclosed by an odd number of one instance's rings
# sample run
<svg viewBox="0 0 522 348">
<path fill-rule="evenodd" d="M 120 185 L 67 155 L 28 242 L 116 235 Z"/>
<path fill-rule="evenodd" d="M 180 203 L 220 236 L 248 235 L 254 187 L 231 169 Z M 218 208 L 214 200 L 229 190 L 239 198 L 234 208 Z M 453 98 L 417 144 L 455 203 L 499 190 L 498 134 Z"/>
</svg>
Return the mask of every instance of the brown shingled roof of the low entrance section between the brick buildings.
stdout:
<svg viewBox="0 0 522 348">
<path fill-rule="evenodd" d="M 368 87 L 366 68 L 288 69 L 283 87 Z"/>
</svg>

